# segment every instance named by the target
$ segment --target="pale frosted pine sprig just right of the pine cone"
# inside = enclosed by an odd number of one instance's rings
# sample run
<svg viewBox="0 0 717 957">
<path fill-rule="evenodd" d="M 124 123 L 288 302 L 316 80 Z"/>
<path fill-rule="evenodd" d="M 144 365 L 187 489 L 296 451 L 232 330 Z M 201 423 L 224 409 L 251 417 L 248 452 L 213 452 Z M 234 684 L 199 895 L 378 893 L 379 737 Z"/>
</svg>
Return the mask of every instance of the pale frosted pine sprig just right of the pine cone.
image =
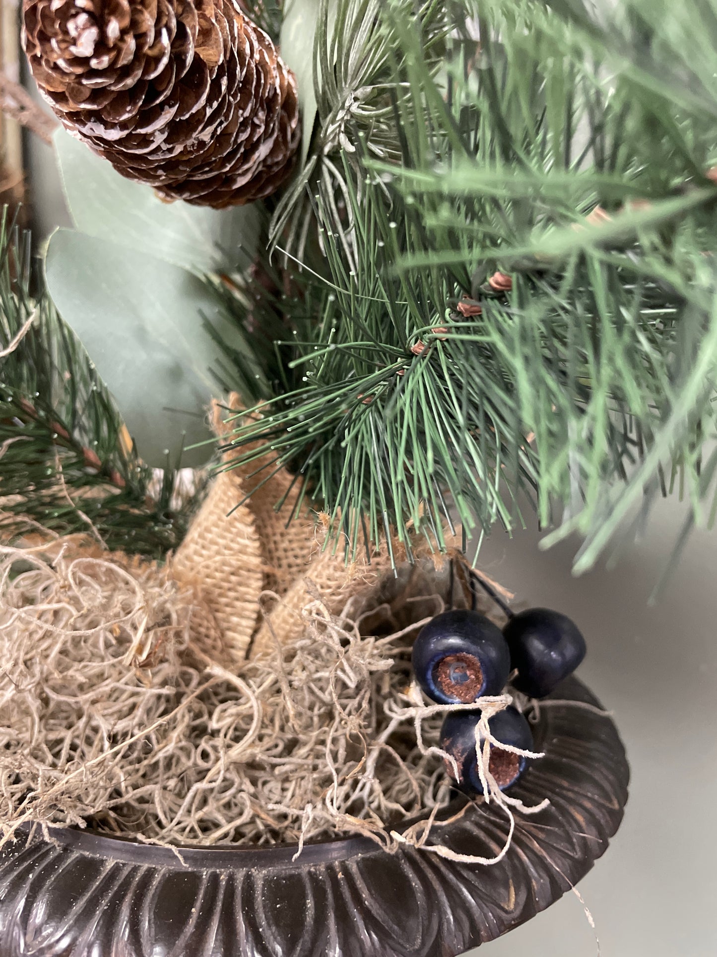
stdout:
<svg viewBox="0 0 717 957">
<path fill-rule="evenodd" d="M 421 24 L 426 69 L 436 73 L 444 62 L 450 24 L 445 3 L 424 0 L 407 5 L 400 0 L 397 10 L 402 13 L 408 7 Z M 419 106 L 411 89 L 396 80 L 395 60 L 401 53 L 393 12 L 381 0 L 321 0 L 314 50 L 318 123 L 314 131 L 304 130 L 305 137 L 314 133 L 307 163 L 274 211 L 272 249 L 311 259 L 315 242 L 323 252 L 323 226 L 331 233 L 329 241 L 339 240 L 349 269 L 354 265 L 349 190 L 358 188 L 364 175 L 359 145 L 375 158 L 399 162 L 402 129 L 396 122 L 397 104 L 402 104 L 408 123 L 414 122 L 413 111 Z M 348 172 L 342 168 L 345 163 Z"/>
</svg>

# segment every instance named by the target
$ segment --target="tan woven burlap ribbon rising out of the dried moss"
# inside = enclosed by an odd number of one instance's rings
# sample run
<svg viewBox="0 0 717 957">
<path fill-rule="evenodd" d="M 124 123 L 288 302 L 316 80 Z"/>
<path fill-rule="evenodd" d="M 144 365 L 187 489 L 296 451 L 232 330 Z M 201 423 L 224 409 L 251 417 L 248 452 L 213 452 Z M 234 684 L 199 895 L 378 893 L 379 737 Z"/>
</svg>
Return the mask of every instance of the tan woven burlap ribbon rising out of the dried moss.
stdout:
<svg viewBox="0 0 717 957">
<path fill-rule="evenodd" d="M 228 409 L 241 411 L 237 395 L 229 396 Z M 227 407 L 214 404 L 212 422 L 220 438 L 230 433 L 226 422 L 230 417 Z M 267 457 L 229 468 L 232 457 L 236 456 L 225 454 L 227 471 L 213 479 L 174 557 L 172 572 L 200 600 L 193 624 L 197 637 L 213 646 L 220 641 L 232 657 L 243 659 L 248 652 L 251 657 L 265 654 L 275 639 L 289 641 L 301 633 L 301 611 L 312 600 L 308 581 L 329 611 L 336 613 L 391 568 L 391 559 L 385 543 L 368 554 L 363 552 L 349 566 L 343 548 L 336 553 L 331 545 L 322 549 L 326 528 L 308 507 L 293 515 L 300 484 L 293 483 L 285 469 L 275 472 L 249 502 L 236 508 L 245 489 L 261 481 L 257 469 L 266 466 L 271 473 L 275 466 Z M 282 500 L 277 511 L 274 506 Z M 395 550 L 394 560 L 402 557 Z M 261 610 L 263 590 L 278 596 L 271 612 Z"/>
</svg>

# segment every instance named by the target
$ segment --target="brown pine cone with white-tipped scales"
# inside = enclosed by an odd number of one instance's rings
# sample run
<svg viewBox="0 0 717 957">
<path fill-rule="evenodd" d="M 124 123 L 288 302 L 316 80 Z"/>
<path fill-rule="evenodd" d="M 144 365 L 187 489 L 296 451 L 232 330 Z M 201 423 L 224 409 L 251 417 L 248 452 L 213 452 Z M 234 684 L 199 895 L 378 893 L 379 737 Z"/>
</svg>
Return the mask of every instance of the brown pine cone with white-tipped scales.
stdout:
<svg viewBox="0 0 717 957">
<path fill-rule="evenodd" d="M 290 173 L 296 82 L 236 0 L 24 0 L 23 11 L 40 90 L 123 176 L 222 209 Z"/>
</svg>

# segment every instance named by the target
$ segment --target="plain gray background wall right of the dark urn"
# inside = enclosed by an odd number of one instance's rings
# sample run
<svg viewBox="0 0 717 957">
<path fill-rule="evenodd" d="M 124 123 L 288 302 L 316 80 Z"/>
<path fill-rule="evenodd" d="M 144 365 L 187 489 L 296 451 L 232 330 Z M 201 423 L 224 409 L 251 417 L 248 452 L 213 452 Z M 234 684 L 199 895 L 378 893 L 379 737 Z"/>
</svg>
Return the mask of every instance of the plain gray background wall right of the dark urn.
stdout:
<svg viewBox="0 0 717 957">
<path fill-rule="evenodd" d="M 570 573 L 577 543 L 539 551 L 539 535 L 495 533 L 481 567 L 518 597 L 571 615 L 588 640 L 578 674 L 615 715 L 632 767 L 618 835 L 578 885 L 603 957 L 717 955 L 717 530 L 689 541 L 654 607 L 647 599 L 682 509 L 665 501 L 612 571 Z M 483 957 L 595 957 L 575 895 Z"/>
</svg>

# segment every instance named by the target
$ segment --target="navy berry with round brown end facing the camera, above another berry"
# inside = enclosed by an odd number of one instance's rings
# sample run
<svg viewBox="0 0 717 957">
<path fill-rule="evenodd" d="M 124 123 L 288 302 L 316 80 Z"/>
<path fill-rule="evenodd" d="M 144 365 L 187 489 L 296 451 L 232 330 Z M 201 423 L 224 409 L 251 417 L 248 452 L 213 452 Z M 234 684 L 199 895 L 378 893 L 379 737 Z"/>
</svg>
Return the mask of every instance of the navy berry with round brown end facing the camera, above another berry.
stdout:
<svg viewBox="0 0 717 957">
<path fill-rule="evenodd" d="M 439 704 L 470 704 L 499 695 L 511 672 L 506 639 L 478 612 L 456 610 L 432 618 L 413 645 L 413 671 Z"/>
</svg>

